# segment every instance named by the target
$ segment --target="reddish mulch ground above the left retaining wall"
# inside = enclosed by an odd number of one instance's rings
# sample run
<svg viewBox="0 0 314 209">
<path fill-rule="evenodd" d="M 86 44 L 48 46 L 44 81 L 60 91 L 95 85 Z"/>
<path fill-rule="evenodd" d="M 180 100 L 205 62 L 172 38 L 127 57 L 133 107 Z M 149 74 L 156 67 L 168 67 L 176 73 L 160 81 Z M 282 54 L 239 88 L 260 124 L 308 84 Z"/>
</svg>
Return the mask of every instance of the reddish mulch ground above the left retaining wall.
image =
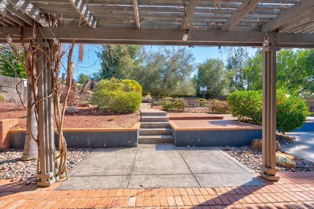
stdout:
<svg viewBox="0 0 314 209">
<path fill-rule="evenodd" d="M 26 105 L 25 105 L 26 106 Z M 17 107 L 22 110 L 17 110 Z M 139 121 L 138 112 L 128 115 L 100 112 L 96 107 L 75 107 L 78 113 L 65 111 L 63 128 L 130 128 Z M 0 102 L 0 119 L 19 119 L 19 124 L 12 127 L 26 127 L 26 111 L 21 104 Z"/>
</svg>

